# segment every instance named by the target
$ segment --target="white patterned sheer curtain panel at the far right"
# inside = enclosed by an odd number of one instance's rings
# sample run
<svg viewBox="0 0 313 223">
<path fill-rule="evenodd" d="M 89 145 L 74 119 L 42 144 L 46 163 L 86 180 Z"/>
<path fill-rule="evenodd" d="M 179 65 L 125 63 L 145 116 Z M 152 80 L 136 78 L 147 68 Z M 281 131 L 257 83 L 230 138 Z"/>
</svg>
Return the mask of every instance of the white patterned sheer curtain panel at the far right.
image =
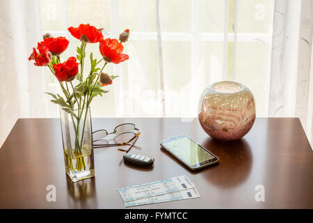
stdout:
<svg viewBox="0 0 313 223">
<path fill-rule="evenodd" d="M 276 0 L 271 58 L 269 116 L 296 116 L 312 138 L 313 3 Z"/>
</svg>

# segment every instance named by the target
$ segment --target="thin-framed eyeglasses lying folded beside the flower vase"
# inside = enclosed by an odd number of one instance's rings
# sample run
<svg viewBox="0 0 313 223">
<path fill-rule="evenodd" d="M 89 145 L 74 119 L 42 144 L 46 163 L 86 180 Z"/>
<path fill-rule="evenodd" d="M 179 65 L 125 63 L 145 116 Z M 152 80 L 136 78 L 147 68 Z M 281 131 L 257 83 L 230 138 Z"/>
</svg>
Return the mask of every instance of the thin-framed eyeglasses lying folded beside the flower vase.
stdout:
<svg viewBox="0 0 313 223">
<path fill-rule="evenodd" d="M 115 134 L 113 139 L 104 139 L 109 134 Z M 124 123 L 114 128 L 113 132 L 108 133 L 107 130 L 97 130 L 93 132 L 93 147 L 110 147 L 110 146 L 125 146 L 129 145 L 128 150 L 119 148 L 118 151 L 124 151 L 128 153 L 133 148 L 141 132 L 138 132 L 138 128 L 133 123 Z M 109 143 L 113 141 L 113 143 Z M 131 144 L 129 144 L 132 141 Z"/>
</svg>

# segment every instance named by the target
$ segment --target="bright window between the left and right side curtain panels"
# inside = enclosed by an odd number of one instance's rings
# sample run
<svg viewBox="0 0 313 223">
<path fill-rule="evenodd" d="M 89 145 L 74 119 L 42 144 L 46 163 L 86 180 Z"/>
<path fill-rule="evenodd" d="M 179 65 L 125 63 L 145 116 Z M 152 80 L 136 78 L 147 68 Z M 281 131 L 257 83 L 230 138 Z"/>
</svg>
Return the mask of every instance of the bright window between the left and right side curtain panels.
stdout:
<svg viewBox="0 0 313 223">
<path fill-rule="evenodd" d="M 43 0 L 40 4 L 42 33 L 71 40 L 63 60 L 76 55 L 79 45 L 67 32 L 69 26 L 90 23 L 104 28 L 104 36 L 111 38 L 118 38 L 124 29 L 131 30 L 125 44 L 130 59 L 106 67 L 106 72 L 120 77 L 104 98 L 93 102 L 94 117 L 162 116 L 160 57 L 166 116 L 197 116 L 202 91 L 222 79 L 248 86 L 255 95 L 257 115 L 268 114 L 274 1 Z M 98 44 L 87 46 L 86 59 L 90 50 L 100 58 Z M 49 91 L 58 91 L 54 81 L 50 75 Z"/>
</svg>

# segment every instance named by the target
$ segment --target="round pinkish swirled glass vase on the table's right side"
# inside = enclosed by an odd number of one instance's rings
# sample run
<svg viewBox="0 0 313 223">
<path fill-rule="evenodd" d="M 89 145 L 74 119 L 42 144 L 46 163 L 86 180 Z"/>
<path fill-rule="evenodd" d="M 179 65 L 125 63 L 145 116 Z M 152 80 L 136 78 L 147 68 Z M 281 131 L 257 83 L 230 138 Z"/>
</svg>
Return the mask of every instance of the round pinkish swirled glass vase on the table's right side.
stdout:
<svg viewBox="0 0 313 223">
<path fill-rule="evenodd" d="M 211 84 L 200 97 L 198 118 L 214 139 L 241 139 L 255 122 L 255 98 L 243 84 Z"/>
</svg>

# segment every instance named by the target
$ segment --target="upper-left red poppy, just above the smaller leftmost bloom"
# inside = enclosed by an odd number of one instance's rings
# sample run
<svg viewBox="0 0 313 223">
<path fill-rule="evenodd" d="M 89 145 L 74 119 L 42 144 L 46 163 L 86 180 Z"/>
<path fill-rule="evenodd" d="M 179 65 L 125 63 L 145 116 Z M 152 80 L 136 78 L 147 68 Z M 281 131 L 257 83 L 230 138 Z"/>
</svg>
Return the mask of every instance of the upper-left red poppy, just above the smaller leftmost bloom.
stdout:
<svg viewBox="0 0 313 223">
<path fill-rule="evenodd" d="M 45 40 L 43 40 L 43 42 L 41 43 L 49 49 L 53 56 L 57 56 L 59 54 L 62 54 L 65 49 L 67 49 L 70 41 L 63 36 L 60 36 L 58 38 L 45 38 Z"/>
</svg>

